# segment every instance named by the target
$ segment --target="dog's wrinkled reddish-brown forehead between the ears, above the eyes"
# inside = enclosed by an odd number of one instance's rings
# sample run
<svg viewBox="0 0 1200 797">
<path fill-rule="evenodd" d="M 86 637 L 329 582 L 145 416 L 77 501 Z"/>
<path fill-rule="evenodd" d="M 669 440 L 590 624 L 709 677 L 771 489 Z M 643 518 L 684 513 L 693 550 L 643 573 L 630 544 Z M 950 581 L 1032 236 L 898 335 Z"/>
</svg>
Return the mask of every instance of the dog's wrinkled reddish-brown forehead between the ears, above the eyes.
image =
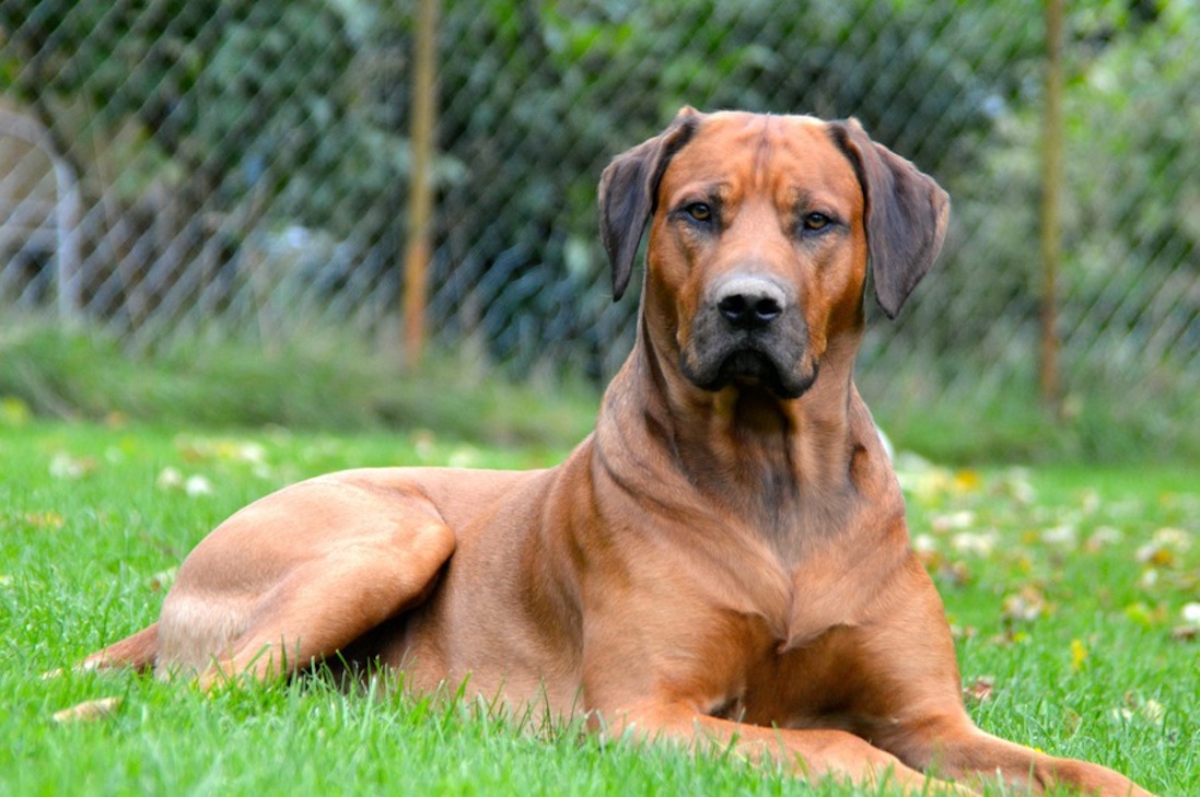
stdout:
<svg viewBox="0 0 1200 797">
<path fill-rule="evenodd" d="M 731 201 L 767 193 L 780 201 L 794 195 L 862 205 L 853 165 L 829 125 L 811 116 L 733 111 L 704 116 L 667 165 L 659 195 L 672 203 L 680 193 L 703 193 L 706 187 Z"/>
</svg>

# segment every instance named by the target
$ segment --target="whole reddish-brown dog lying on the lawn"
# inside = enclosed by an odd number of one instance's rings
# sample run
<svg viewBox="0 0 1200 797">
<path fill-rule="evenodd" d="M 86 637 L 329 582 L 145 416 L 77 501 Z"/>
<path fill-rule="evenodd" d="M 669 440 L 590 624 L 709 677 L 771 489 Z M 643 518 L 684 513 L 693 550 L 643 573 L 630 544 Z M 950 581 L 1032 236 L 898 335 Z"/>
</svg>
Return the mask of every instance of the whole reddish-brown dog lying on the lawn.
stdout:
<svg viewBox="0 0 1200 797">
<path fill-rule="evenodd" d="M 242 509 L 160 621 L 86 664 L 210 684 L 379 662 L 434 690 L 715 739 L 798 772 L 1145 795 L 968 719 L 938 599 L 852 381 L 868 264 L 894 316 L 946 193 L 854 121 L 684 109 L 600 183 L 637 343 L 595 433 L 534 472 L 358 470 Z"/>
</svg>

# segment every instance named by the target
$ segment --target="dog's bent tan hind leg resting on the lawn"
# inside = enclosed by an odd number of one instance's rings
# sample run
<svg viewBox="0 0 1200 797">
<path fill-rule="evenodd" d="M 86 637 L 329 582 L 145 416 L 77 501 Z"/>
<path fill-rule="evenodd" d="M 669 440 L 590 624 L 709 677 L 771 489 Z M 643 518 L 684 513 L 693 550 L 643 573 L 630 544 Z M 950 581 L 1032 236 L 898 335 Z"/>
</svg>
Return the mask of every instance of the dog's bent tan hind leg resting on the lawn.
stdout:
<svg viewBox="0 0 1200 797">
<path fill-rule="evenodd" d="M 163 604 L 157 669 L 202 687 L 290 675 L 420 602 L 455 549 L 415 491 L 325 477 L 239 512 Z"/>
</svg>

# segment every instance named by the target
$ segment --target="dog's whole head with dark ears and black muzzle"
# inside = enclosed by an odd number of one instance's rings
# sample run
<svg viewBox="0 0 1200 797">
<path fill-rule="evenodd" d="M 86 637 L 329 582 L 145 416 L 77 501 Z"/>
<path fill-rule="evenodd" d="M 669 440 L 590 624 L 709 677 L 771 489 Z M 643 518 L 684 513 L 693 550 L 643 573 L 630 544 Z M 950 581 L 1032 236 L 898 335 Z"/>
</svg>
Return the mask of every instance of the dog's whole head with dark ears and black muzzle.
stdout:
<svg viewBox="0 0 1200 797">
<path fill-rule="evenodd" d="M 862 330 L 868 267 L 895 318 L 948 211 L 932 179 L 854 120 L 685 108 L 600 181 L 617 298 L 650 227 L 647 344 L 696 387 L 781 399 L 812 385 L 832 340 Z"/>
</svg>

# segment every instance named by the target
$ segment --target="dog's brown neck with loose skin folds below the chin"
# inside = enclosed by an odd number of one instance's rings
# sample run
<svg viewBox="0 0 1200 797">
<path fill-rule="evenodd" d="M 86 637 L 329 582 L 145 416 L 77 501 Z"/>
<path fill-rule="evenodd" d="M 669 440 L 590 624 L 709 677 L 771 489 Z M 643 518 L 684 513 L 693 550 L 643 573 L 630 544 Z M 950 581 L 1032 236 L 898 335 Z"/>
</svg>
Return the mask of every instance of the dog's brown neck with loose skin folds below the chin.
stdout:
<svg viewBox="0 0 1200 797">
<path fill-rule="evenodd" d="M 860 338 L 853 330 L 832 339 L 808 392 L 780 399 L 752 386 L 696 387 L 680 373 L 678 352 L 655 345 L 642 316 L 605 396 L 596 446 L 622 467 L 654 460 L 654 472 L 673 472 L 734 512 L 786 515 L 810 503 L 806 497 L 842 493 L 864 436 L 875 435 L 852 384 Z M 734 506 L 746 496 L 754 506 Z"/>
</svg>

